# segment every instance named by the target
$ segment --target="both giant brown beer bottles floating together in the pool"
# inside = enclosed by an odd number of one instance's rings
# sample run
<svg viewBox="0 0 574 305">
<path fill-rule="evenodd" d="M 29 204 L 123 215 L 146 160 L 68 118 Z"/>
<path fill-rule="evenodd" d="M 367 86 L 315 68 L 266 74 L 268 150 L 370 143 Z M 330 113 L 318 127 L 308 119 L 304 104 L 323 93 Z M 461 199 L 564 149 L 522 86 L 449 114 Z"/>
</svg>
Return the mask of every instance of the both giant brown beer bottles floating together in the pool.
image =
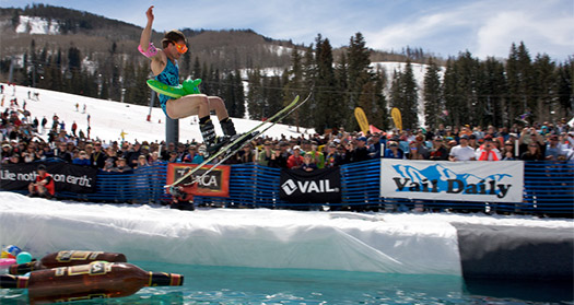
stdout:
<svg viewBox="0 0 574 305">
<path fill-rule="evenodd" d="M 17 255 L 16 255 L 17 256 Z M 104 251 L 59 251 L 14 263 L 0 274 L 0 289 L 27 289 L 32 304 L 132 295 L 144 286 L 177 286 L 184 277 L 148 272 L 126 256 Z"/>
</svg>

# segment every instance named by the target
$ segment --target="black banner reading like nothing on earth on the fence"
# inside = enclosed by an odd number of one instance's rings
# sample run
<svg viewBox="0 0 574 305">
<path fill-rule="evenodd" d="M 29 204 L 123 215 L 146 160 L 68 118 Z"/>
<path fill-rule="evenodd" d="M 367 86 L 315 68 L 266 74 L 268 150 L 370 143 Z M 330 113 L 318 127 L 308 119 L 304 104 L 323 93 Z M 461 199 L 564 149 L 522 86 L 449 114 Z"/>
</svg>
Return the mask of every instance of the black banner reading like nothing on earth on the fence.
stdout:
<svg viewBox="0 0 574 305">
<path fill-rule="evenodd" d="M 27 189 L 38 175 L 40 163 L 2 164 L 0 188 L 3 190 Z M 56 191 L 95 192 L 97 169 L 63 162 L 44 163 L 54 178 Z"/>
</svg>

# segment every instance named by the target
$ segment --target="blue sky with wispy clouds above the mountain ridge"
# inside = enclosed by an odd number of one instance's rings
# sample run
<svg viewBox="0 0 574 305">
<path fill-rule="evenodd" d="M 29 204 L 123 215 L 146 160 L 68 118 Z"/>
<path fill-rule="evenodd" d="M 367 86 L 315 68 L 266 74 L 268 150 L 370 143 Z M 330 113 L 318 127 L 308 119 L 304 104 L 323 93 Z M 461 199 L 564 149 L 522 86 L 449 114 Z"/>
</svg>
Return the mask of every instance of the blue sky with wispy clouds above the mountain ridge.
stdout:
<svg viewBox="0 0 574 305">
<path fill-rule="evenodd" d="M 35 1 L 0 0 L 0 7 Z M 276 39 L 311 44 L 321 34 L 333 47 L 349 45 L 356 32 L 368 47 L 421 47 L 437 56 L 507 58 L 511 44 L 524 42 L 534 58 L 574 56 L 574 0 L 46 0 L 46 4 L 87 11 L 145 25 L 155 5 L 154 30 L 251 28 Z"/>
</svg>

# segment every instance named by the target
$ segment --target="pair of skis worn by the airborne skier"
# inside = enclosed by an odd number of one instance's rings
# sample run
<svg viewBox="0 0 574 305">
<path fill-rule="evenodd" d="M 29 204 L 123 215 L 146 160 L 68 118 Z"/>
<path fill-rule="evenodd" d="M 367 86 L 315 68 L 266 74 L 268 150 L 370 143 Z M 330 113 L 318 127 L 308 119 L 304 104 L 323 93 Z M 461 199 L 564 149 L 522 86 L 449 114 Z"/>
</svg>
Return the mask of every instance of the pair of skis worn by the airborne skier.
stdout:
<svg viewBox="0 0 574 305">
<path fill-rule="evenodd" d="M 294 109 L 298 108 L 301 105 L 305 104 L 309 99 L 311 95 L 305 98 L 305 101 L 298 103 L 298 95 L 295 96 L 295 98 L 286 105 L 283 109 L 279 110 L 277 114 L 268 118 L 266 121 L 262 121 L 261 124 L 254 127 L 251 130 L 245 132 L 244 134 L 239 136 L 234 141 L 227 143 L 225 146 L 221 148 L 220 151 L 216 153 L 210 155 L 208 159 L 206 159 L 201 164 L 198 164 L 196 167 L 188 171 L 185 175 L 179 177 L 179 179 L 175 180 L 171 185 L 166 185 L 166 188 L 169 188 L 169 193 L 177 195 L 177 186 L 181 185 L 183 181 L 185 181 L 188 177 L 190 177 L 194 173 L 201 169 L 204 165 L 210 163 L 211 161 L 215 160 L 216 157 L 221 156 L 222 154 L 225 154 L 225 156 L 219 161 L 215 165 L 213 165 L 211 168 L 209 168 L 207 172 L 204 172 L 201 176 L 196 177 L 191 183 L 186 185 L 192 185 L 199 180 L 201 180 L 207 174 L 211 173 L 215 167 L 221 165 L 223 162 L 225 162 L 227 159 L 230 159 L 233 154 L 235 154 L 237 151 L 239 151 L 249 140 L 254 139 L 255 137 L 262 134 L 265 131 L 267 131 L 269 128 L 273 127 L 278 121 L 285 118 L 288 115 L 290 115 Z M 269 126 L 265 127 L 262 130 L 259 130 L 262 128 L 266 124 L 269 124 Z"/>
</svg>

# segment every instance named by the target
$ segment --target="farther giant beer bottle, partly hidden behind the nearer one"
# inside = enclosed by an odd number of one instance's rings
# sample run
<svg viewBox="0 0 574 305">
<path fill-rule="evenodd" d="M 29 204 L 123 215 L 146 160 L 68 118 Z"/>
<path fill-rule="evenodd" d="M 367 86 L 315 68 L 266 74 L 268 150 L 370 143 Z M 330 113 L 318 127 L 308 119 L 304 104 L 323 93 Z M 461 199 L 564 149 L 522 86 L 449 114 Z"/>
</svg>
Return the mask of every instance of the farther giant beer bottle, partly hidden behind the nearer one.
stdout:
<svg viewBox="0 0 574 305">
<path fill-rule="evenodd" d="M 50 269 L 57 267 L 69 267 L 78 265 L 86 265 L 96 260 L 105 260 L 109 262 L 126 262 L 126 256 L 115 253 L 102 251 L 59 251 L 46 255 L 40 260 L 31 261 L 26 263 L 10 266 L 10 274 L 26 274 L 27 272 Z"/>
</svg>

